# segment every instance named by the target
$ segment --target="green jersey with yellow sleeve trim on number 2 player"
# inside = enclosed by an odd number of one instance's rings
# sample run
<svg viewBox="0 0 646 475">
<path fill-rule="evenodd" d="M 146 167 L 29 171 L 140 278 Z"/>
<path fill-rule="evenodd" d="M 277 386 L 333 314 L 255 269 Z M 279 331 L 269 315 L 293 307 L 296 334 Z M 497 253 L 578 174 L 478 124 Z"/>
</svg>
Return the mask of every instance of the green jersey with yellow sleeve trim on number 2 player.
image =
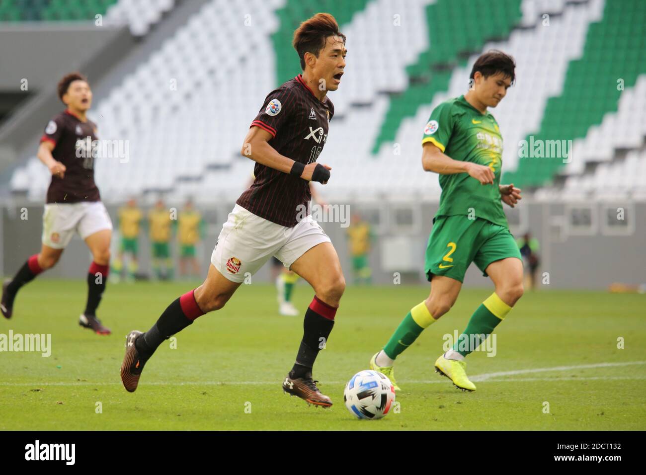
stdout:
<svg viewBox="0 0 646 475">
<path fill-rule="evenodd" d="M 464 96 L 435 107 L 424 128 L 422 144 L 431 142 L 453 160 L 486 165 L 493 185 L 481 185 L 468 173 L 441 174 L 442 194 L 436 216 L 470 215 L 508 227 L 500 200 L 503 137 L 494 116 L 482 114 Z"/>
</svg>

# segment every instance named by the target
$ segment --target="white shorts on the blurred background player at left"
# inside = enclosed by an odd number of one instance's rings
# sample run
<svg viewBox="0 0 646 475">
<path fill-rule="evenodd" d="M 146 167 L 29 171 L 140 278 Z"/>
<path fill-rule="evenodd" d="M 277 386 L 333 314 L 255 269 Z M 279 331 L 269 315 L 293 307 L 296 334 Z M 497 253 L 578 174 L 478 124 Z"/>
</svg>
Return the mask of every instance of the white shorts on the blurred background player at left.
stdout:
<svg viewBox="0 0 646 475">
<path fill-rule="evenodd" d="M 107 209 L 100 201 L 49 203 L 43 213 L 43 244 L 65 249 L 74 233 L 82 239 L 103 229 L 112 229 Z"/>
</svg>

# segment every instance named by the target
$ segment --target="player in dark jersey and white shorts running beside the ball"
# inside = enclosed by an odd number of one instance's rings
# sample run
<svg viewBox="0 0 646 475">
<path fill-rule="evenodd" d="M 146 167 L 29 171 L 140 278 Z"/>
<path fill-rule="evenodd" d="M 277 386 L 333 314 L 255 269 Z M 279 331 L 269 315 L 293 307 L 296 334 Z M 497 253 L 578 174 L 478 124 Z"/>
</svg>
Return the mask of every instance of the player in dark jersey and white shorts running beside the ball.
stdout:
<svg viewBox="0 0 646 475">
<path fill-rule="evenodd" d="M 329 14 L 317 14 L 294 33 L 302 74 L 267 95 L 242 145 L 256 162 L 255 180 L 238 201 L 216 242 L 204 283 L 172 302 L 152 328 L 127 336 L 121 381 L 136 390 L 141 370 L 164 339 L 194 319 L 222 308 L 247 275 L 271 256 L 307 280 L 315 297 L 307 308 L 304 335 L 282 389 L 308 403 L 331 406 L 312 368 L 334 325 L 345 280 L 329 237 L 309 213 L 309 182 L 326 184 L 331 167 L 317 164 L 334 107 L 346 56 L 345 36 Z"/>
</svg>

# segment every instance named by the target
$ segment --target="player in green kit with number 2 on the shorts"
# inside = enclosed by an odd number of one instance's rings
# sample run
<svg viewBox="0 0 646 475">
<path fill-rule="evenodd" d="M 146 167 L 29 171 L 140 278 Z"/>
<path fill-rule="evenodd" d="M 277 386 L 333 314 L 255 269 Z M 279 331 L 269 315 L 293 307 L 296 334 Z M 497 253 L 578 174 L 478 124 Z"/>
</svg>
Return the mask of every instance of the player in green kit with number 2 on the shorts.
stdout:
<svg viewBox="0 0 646 475">
<path fill-rule="evenodd" d="M 494 116 L 487 112 L 514 83 L 515 68 L 514 59 L 503 52 L 481 55 L 471 71 L 468 92 L 441 103 L 426 123 L 422 167 L 439 174 L 442 188 L 426 248 L 424 270 L 431 291 L 370 360 L 370 368 L 390 377 L 396 390 L 395 358 L 450 310 L 471 262 L 493 280 L 495 291 L 475 310 L 453 348 L 435 361 L 435 371 L 450 378 L 457 388 L 475 391 L 466 376 L 464 357 L 493 332 L 523 295 L 523 261 L 501 204 L 514 207 L 521 191 L 513 184 L 499 184 L 503 139 Z"/>
</svg>

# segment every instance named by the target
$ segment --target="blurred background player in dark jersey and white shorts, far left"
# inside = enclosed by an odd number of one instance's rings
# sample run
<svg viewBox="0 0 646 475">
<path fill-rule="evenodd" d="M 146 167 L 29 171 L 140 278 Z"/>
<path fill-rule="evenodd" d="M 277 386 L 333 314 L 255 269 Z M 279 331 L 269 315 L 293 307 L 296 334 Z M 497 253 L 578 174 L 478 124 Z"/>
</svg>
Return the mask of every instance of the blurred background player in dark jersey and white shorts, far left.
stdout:
<svg viewBox="0 0 646 475">
<path fill-rule="evenodd" d="M 26 260 L 14 279 L 5 281 L 0 309 L 10 318 L 18 290 L 54 266 L 78 233 L 93 259 L 87 273 L 87 303 L 79 324 L 99 335 L 109 335 L 110 330 L 96 317 L 108 279 L 112 222 L 94 183 L 96 154 L 87 149 L 87 143 L 98 140 L 96 124 L 86 115 L 92 105 L 92 90 L 85 76 L 72 72 L 58 83 L 58 96 L 67 109 L 47 123 L 37 153 L 52 173 L 43 213 L 43 247 Z"/>
</svg>

